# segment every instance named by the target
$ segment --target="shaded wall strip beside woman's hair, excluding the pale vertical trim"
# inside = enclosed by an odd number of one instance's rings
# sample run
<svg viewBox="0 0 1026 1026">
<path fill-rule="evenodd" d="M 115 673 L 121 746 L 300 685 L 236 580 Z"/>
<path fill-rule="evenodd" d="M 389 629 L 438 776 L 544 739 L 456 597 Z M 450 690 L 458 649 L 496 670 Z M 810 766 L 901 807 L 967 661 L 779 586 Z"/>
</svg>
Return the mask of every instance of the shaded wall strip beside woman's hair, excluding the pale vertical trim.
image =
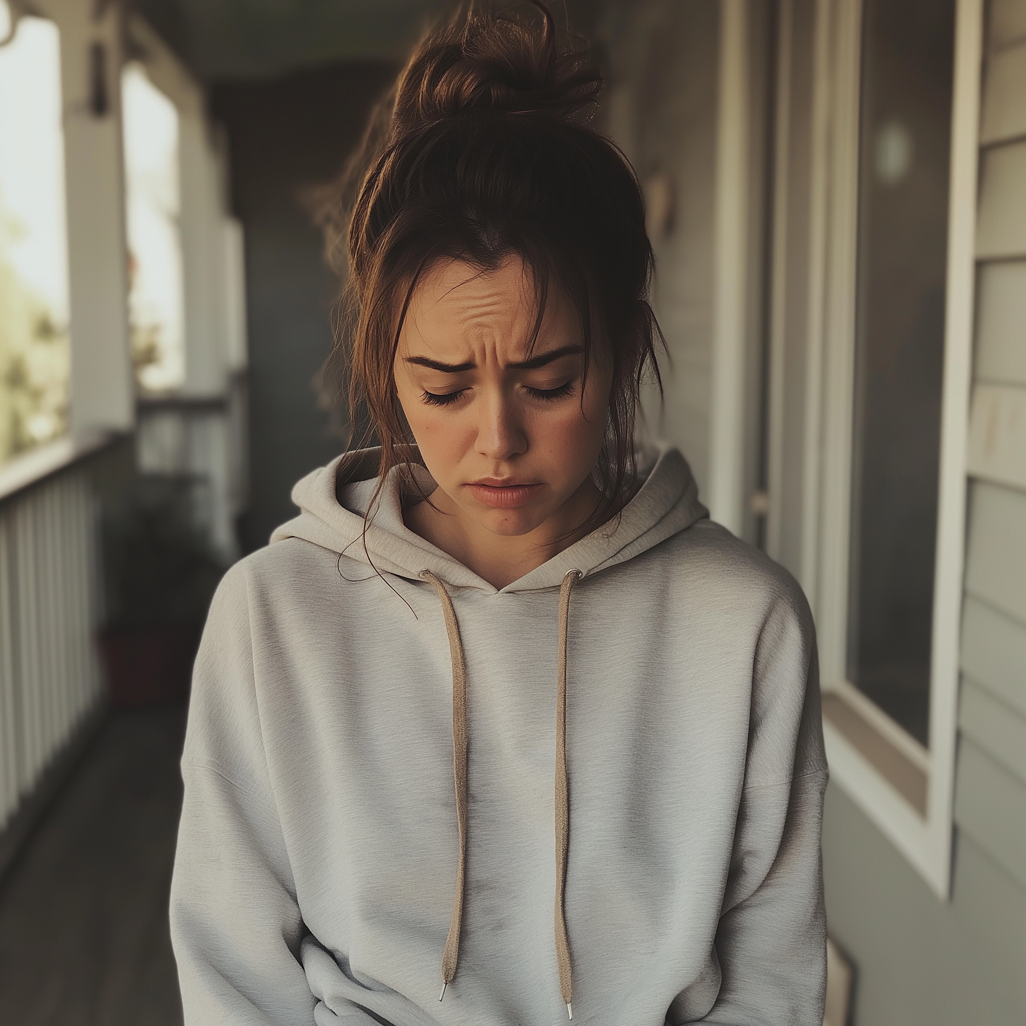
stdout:
<svg viewBox="0 0 1026 1026">
<path fill-rule="evenodd" d="M 709 485 L 719 11 L 709 0 L 610 3 L 606 130 L 642 184 L 668 183 L 672 215 L 653 232 L 656 314 L 666 336 L 665 403 L 646 428 L 680 446 Z M 649 206 L 652 203 L 649 202 Z"/>
</svg>

